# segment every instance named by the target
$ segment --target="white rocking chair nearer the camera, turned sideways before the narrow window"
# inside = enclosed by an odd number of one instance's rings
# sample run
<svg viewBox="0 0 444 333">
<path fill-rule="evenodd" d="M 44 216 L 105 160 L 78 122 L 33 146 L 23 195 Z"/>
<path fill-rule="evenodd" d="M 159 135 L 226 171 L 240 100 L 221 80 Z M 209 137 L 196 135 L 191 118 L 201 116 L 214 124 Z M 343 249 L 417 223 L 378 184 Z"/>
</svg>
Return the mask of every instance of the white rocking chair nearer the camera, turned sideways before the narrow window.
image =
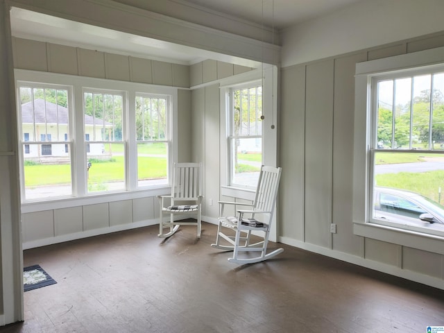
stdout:
<svg viewBox="0 0 444 333">
<path fill-rule="evenodd" d="M 273 221 L 273 212 L 275 210 L 276 196 L 278 196 L 281 171 L 281 168 L 262 166 L 259 173 L 255 201 L 251 205 L 219 201 L 220 217 L 216 244 L 212 244 L 211 246 L 221 250 L 234 251 L 233 256 L 228 258 L 229 262 L 236 264 L 253 264 L 270 259 L 284 251 L 283 248 L 278 248 L 271 253 L 266 253 L 271 222 Z M 248 210 L 238 209 L 238 217 L 225 216 L 223 214 L 225 205 L 251 206 L 251 208 Z M 261 214 L 264 221 L 255 219 L 256 214 Z M 250 244 L 252 231 L 264 232 L 263 239 L 255 244 Z M 225 244 L 228 241 L 230 245 L 221 244 L 222 240 L 225 240 Z M 245 257 L 246 254 L 239 257 L 239 253 L 247 251 L 257 251 L 260 254 L 257 257 Z"/>
</svg>

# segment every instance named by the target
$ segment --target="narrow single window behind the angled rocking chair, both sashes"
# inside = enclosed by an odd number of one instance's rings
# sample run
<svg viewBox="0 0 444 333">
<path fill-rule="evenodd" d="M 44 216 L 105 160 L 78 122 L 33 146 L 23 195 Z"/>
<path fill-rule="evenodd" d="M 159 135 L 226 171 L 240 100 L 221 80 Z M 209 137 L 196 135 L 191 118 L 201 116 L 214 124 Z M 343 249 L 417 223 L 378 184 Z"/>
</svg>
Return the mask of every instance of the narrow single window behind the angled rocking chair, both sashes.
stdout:
<svg viewBox="0 0 444 333">
<path fill-rule="evenodd" d="M 230 89 L 229 185 L 255 188 L 262 165 L 262 85 Z"/>
</svg>

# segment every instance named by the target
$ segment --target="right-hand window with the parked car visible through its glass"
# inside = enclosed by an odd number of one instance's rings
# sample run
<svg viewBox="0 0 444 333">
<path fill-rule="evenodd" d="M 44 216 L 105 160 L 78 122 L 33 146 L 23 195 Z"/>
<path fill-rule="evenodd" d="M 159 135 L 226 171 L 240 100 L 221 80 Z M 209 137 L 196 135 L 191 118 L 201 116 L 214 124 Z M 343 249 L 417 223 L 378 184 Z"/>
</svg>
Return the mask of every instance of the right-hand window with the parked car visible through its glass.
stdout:
<svg viewBox="0 0 444 333">
<path fill-rule="evenodd" d="M 370 220 L 442 234 L 444 69 L 379 74 L 371 90 Z"/>
</svg>

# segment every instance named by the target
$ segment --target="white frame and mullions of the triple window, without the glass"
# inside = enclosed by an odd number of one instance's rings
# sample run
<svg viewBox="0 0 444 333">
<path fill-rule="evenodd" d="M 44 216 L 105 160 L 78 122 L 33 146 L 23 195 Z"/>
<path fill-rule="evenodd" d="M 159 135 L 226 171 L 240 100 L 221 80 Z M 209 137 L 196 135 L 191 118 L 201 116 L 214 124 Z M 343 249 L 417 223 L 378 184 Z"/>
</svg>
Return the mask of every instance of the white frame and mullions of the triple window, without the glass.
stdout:
<svg viewBox="0 0 444 333">
<path fill-rule="evenodd" d="M 73 89 L 73 96 L 69 106 L 72 118 L 71 130 L 73 164 L 71 166 L 73 173 L 73 196 L 69 198 L 49 198 L 49 200 L 26 201 L 22 197 L 22 212 L 35 212 L 40 210 L 51 210 L 63 207 L 76 207 L 78 205 L 90 205 L 95 203 L 106 203 L 114 200 L 128 200 L 133 198 L 144 198 L 146 196 L 157 196 L 169 193 L 169 185 L 153 185 L 150 187 L 137 187 L 137 146 L 135 134 L 135 96 L 138 93 L 168 95 L 171 101 L 170 117 L 168 123 L 170 147 L 168 152 L 170 178 L 171 166 L 178 158 L 178 148 L 174 144 L 177 133 L 178 119 L 178 88 L 165 87 L 158 85 L 148 85 L 143 83 L 131 83 L 118 80 L 105 80 L 101 78 L 87 78 L 82 76 L 71 76 L 67 74 L 53 74 L 40 71 L 28 71 L 24 69 L 15 69 L 15 80 L 18 87 L 19 81 L 69 86 Z M 85 168 L 86 152 L 85 152 L 85 133 L 84 133 L 84 116 L 83 116 L 83 88 L 103 89 L 104 91 L 124 91 L 126 93 L 126 102 L 123 105 L 124 110 L 128 113 L 123 115 L 123 126 L 126 128 L 126 190 L 116 192 L 93 192 L 87 193 L 87 170 Z M 18 102 L 17 102 L 18 103 Z M 133 111 L 131 111 L 133 110 Z M 21 121 L 18 121 L 21 126 Z M 78 138 L 78 141 L 76 138 Z M 22 139 L 22 138 L 20 138 Z M 69 142 L 62 142 L 67 144 Z M 26 142 L 28 144 L 28 142 Z M 21 153 L 23 155 L 23 153 Z M 23 157 L 22 157 L 23 159 Z M 21 161 L 23 162 L 23 160 Z M 21 167 L 22 169 L 22 167 Z M 21 174 L 23 179 L 23 175 Z M 80 181 L 79 181 L 80 180 Z M 84 180 L 84 181 L 82 181 Z M 171 183 L 171 180 L 169 180 Z"/>
</svg>

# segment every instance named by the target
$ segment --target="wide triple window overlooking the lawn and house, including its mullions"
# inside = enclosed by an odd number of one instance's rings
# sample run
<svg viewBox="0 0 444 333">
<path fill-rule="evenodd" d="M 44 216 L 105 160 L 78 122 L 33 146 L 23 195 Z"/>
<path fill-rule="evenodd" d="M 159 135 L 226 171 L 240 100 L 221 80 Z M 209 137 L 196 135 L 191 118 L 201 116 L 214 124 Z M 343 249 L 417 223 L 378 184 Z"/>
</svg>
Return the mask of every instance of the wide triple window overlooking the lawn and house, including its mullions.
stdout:
<svg viewBox="0 0 444 333">
<path fill-rule="evenodd" d="M 177 89 L 16 70 L 24 203 L 169 185 Z"/>
</svg>

